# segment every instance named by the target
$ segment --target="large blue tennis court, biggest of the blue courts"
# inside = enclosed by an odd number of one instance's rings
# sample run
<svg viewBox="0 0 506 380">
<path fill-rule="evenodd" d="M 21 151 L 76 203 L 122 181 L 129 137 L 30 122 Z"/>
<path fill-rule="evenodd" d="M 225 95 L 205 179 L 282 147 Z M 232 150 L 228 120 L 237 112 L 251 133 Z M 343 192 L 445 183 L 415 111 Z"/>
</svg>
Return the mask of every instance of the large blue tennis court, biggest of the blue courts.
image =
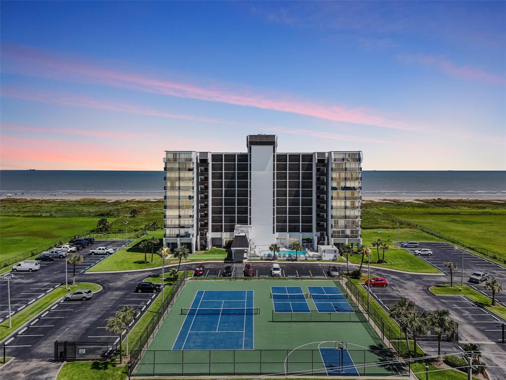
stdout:
<svg viewBox="0 0 506 380">
<path fill-rule="evenodd" d="M 173 350 L 252 350 L 252 290 L 199 290 Z"/>
</svg>

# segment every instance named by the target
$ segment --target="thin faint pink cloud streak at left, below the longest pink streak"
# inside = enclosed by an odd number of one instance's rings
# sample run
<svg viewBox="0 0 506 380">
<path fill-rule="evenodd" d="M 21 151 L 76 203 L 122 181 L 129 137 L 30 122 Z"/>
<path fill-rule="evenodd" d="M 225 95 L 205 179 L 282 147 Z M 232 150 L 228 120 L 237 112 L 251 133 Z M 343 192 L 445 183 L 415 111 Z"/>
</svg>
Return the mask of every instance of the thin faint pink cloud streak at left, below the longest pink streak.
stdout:
<svg viewBox="0 0 506 380">
<path fill-rule="evenodd" d="M 167 119 L 194 120 L 205 123 L 224 123 L 224 121 L 208 118 L 199 118 L 187 115 L 178 115 L 176 113 L 165 112 L 162 110 L 139 106 L 129 103 L 121 103 L 108 99 L 93 99 L 74 94 L 63 94 L 55 92 L 36 92 L 33 89 L 14 89 L 2 87 L 2 96 L 16 98 L 21 100 L 35 101 L 40 103 L 55 103 L 74 107 L 84 107 L 93 109 L 102 109 L 123 113 L 134 113 L 136 115 L 154 116 Z"/>
</svg>

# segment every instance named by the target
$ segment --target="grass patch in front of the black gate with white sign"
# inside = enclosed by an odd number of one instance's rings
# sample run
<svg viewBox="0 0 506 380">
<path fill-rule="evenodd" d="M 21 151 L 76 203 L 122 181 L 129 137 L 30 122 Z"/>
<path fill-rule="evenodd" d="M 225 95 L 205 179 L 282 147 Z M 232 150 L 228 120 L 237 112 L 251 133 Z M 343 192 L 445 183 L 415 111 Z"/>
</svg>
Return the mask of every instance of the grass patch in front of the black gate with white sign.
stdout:
<svg viewBox="0 0 506 380">
<path fill-rule="evenodd" d="M 68 362 L 65 363 L 56 380 L 124 380 L 125 365 L 116 366 L 112 361 Z"/>
</svg>

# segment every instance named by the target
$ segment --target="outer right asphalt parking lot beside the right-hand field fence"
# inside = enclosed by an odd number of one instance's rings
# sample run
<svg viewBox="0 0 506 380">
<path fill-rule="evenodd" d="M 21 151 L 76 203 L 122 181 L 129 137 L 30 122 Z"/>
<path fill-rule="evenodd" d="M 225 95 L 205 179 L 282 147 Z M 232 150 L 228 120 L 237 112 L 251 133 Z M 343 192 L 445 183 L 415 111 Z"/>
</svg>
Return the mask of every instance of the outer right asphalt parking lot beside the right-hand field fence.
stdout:
<svg viewBox="0 0 506 380">
<path fill-rule="evenodd" d="M 457 284 L 460 284 L 460 267 L 463 256 L 463 282 L 478 290 L 482 294 L 485 294 L 487 297 L 492 297 L 492 292 L 490 290 L 485 290 L 485 283 L 474 284 L 468 282 L 469 276 L 474 271 L 482 271 L 488 273 L 490 275 L 489 279 L 495 278 L 502 284 L 506 283 L 506 270 L 504 270 L 504 267 L 501 267 L 501 265 L 488 261 L 466 250 L 464 250 L 462 254 L 462 250 L 448 243 L 420 243 L 420 248 L 432 249 L 432 256 L 420 256 L 420 258 L 427 261 L 446 275 L 449 275 L 450 272 L 448 268 L 445 267 L 444 262 L 453 261 L 457 265 L 457 269 L 453 271 L 453 282 Z M 408 248 L 407 250 L 414 252 L 416 249 Z M 498 302 L 506 305 L 506 293 L 497 293 L 495 296 Z"/>
</svg>

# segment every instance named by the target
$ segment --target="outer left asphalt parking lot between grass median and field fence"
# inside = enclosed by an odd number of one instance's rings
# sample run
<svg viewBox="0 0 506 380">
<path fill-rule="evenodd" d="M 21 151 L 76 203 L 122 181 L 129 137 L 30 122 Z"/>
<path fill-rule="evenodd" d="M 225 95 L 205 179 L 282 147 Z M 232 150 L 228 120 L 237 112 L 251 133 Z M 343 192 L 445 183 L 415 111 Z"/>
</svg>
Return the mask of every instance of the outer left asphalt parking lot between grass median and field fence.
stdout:
<svg viewBox="0 0 506 380">
<path fill-rule="evenodd" d="M 76 265 L 76 274 L 80 274 L 102 261 L 107 256 L 92 256 L 92 248 L 107 246 L 117 251 L 125 241 L 96 241 L 77 253 L 83 256 L 83 262 Z M 67 264 L 68 281 L 72 281 L 73 266 Z M 11 315 L 14 315 L 38 298 L 65 283 L 65 259 L 40 261 L 40 270 L 35 272 L 11 272 L 15 278 L 11 281 Z M 0 323 L 9 317 L 7 282 L 0 281 Z"/>
</svg>

